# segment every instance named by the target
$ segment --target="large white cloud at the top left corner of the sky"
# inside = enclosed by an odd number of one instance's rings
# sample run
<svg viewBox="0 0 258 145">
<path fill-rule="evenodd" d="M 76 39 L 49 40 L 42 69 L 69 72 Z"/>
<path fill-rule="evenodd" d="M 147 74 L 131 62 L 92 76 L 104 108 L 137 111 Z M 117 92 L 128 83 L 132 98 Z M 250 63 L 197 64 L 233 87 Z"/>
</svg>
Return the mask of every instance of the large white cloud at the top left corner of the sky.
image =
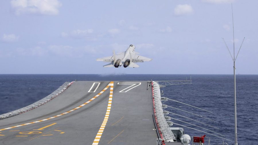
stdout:
<svg viewBox="0 0 258 145">
<path fill-rule="evenodd" d="M 12 0 L 11 6 L 17 15 L 22 13 L 40 13 L 57 15 L 62 4 L 58 0 Z"/>
</svg>

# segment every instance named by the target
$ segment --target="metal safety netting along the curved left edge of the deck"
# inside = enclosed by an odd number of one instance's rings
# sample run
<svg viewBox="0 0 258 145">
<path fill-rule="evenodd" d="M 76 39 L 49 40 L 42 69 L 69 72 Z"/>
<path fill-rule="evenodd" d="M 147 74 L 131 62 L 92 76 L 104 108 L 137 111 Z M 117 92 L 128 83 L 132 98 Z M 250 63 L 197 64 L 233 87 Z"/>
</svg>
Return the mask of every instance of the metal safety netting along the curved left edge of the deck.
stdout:
<svg viewBox="0 0 258 145">
<path fill-rule="evenodd" d="M 52 92 L 51 94 L 49 94 L 45 98 L 43 98 L 41 100 L 38 100 L 37 102 L 32 103 L 31 105 L 28 105 L 28 106 L 23 107 L 21 109 L 14 110 L 14 111 L 11 111 L 9 113 L 5 113 L 5 114 L 0 115 L 0 120 L 5 119 L 5 118 L 9 118 L 9 117 L 12 117 L 12 116 L 15 116 L 15 115 L 19 115 L 21 113 L 24 113 L 26 111 L 29 111 L 29 110 L 34 109 L 36 107 L 39 107 L 39 106 L 47 103 L 48 101 L 52 100 L 53 98 L 55 98 L 57 95 L 62 93 L 64 90 L 66 90 L 70 85 L 71 85 L 71 82 L 65 82 L 62 86 L 60 86 L 57 90 L 55 90 L 54 92 Z"/>
</svg>

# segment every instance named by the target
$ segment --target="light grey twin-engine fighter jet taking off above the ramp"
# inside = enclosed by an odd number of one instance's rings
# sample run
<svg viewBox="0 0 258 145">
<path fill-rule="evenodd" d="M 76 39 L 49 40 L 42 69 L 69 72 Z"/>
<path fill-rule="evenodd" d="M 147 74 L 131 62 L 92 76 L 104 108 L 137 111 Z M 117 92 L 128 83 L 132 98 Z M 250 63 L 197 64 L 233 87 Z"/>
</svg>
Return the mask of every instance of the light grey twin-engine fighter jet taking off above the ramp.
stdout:
<svg viewBox="0 0 258 145">
<path fill-rule="evenodd" d="M 152 60 L 150 58 L 138 55 L 139 53 L 135 52 L 134 50 L 135 46 L 131 44 L 125 52 L 116 54 L 115 51 L 113 51 L 112 56 L 99 58 L 96 61 L 110 62 L 107 65 L 103 65 L 103 67 L 120 67 L 121 65 L 124 65 L 124 67 L 139 67 L 136 62 Z"/>
</svg>

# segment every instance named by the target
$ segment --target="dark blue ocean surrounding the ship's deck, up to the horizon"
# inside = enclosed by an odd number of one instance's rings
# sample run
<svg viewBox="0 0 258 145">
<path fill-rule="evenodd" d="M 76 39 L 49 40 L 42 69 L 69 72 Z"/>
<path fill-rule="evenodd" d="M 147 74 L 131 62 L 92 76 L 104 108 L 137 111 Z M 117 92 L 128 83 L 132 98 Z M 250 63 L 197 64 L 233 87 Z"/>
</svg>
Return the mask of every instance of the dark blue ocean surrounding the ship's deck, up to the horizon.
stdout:
<svg viewBox="0 0 258 145">
<path fill-rule="evenodd" d="M 187 75 L 165 74 L 0 74 L 0 114 L 7 113 L 30 105 L 44 98 L 66 81 L 119 81 L 119 80 L 186 80 Z M 190 76 L 187 76 L 190 79 Z M 196 116 L 178 109 L 166 108 L 165 110 L 188 117 L 202 123 L 178 115 L 169 115 L 172 122 L 201 130 L 183 127 L 190 136 L 206 134 L 205 143 L 210 138 L 212 145 L 222 144 L 223 139 L 211 136 L 220 136 L 234 143 L 234 78 L 233 75 L 191 75 L 192 84 L 172 85 L 161 88 L 164 97 L 171 98 L 189 105 L 193 105 L 212 113 L 202 111 L 174 101 L 164 104 L 181 110 L 196 113 Z M 147 86 L 146 86 L 147 87 Z M 236 75 L 237 96 L 237 133 L 240 145 L 257 144 L 258 142 L 258 75 Z M 179 121 L 180 120 L 180 121 Z M 184 121 L 184 122 L 182 122 Z M 187 122 L 187 123 L 185 123 Z M 201 126 L 208 130 L 190 125 Z M 173 125 L 171 127 L 180 127 Z M 216 128 L 219 129 L 216 129 Z M 210 134 L 207 134 L 207 133 Z"/>
</svg>

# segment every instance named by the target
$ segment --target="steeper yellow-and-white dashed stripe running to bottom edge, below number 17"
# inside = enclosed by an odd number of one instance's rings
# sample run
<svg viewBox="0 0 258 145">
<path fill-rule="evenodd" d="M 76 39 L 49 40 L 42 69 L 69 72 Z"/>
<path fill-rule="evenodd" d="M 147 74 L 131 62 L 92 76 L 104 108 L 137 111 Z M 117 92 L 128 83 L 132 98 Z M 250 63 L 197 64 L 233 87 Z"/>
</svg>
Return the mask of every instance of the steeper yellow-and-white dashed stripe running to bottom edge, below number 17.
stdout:
<svg viewBox="0 0 258 145">
<path fill-rule="evenodd" d="M 108 120 L 108 117 L 109 117 L 109 114 L 110 114 L 110 109 L 111 109 L 111 105 L 112 105 L 112 96 L 113 96 L 113 86 L 114 86 L 114 82 L 110 82 L 108 84 L 108 86 L 110 86 L 110 93 L 109 93 L 109 100 L 108 100 L 108 105 L 107 105 L 107 111 L 106 111 L 106 115 L 104 117 L 104 120 L 99 128 L 99 131 L 92 143 L 92 145 L 98 145 L 99 144 L 99 140 L 102 136 L 102 133 L 105 129 L 105 126 L 107 124 L 107 120 Z"/>
</svg>

